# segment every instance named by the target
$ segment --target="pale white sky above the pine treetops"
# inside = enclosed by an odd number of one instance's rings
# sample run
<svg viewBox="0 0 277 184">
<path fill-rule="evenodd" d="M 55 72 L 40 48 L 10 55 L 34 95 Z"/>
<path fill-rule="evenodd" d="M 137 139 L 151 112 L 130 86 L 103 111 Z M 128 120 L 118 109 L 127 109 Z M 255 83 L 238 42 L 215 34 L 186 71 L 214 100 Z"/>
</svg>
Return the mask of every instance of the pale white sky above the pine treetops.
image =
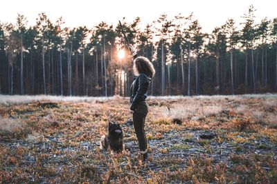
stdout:
<svg viewBox="0 0 277 184">
<path fill-rule="evenodd" d="M 251 4 L 256 9 L 256 23 L 265 17 L 277 17 L 276 0 L 2 0 L 0 22 L 15 23 L 19 13 L 27 17 L 28 25 L 35 25 L 38 14 L 46 12 L 53 22 L 62 17 L 68 27 L 86 25 L 93 28 L 101 21 L 116 25 L 123 17 L 127 22 L 140 17 L 144 27 L 146 23 L 159 19 L 163 13 L 173 18 L 179 13 L 186 17 L 193 12 L 204 32 L 210 33 L 231 18 L 239 26 Z"/>
</svg>

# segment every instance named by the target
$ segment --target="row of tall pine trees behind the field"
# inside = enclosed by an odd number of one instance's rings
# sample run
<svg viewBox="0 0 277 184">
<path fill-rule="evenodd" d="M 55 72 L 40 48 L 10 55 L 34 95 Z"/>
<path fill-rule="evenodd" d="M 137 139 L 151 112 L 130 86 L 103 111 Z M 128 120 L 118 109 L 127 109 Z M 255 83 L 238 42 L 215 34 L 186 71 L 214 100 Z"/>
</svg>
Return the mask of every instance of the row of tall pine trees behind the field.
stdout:
<svg viewBox="0 0 277 184">
<path fill-rule="evenodd" d="M 157 71 L 152 95 L 276 92 L 277 19 L 255 23 L 254 13 L 249 6 L 244 22 L 229 19 L 211 34 L 193 14 L 162 14 L 145 28 L 139 17 L 122 22 Z M 62 18 L 52 22 L 41 13 L 29 27 L 18 14 L 15 25 L 0 22 L 0 94 L 128 96 L 132 57 L 124 45 L 119 25 L 66 28 Z"/>
</svg>

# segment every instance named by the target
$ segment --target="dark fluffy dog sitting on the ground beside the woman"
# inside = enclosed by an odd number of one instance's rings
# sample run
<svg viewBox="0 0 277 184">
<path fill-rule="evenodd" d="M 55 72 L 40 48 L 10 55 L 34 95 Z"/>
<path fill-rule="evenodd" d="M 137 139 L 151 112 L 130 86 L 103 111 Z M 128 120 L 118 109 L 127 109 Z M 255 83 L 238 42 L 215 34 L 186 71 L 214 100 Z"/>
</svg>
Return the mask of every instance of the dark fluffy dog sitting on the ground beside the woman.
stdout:
<svg viewBox="0 0 277 184">
<path fill-rule="evenodd" d="M 123 131 L 118 123 L 109 122 L 108 134 L 100 138 L 100 150 L 109 150 L 113 152 L 122 152 Z"/>
</svg>

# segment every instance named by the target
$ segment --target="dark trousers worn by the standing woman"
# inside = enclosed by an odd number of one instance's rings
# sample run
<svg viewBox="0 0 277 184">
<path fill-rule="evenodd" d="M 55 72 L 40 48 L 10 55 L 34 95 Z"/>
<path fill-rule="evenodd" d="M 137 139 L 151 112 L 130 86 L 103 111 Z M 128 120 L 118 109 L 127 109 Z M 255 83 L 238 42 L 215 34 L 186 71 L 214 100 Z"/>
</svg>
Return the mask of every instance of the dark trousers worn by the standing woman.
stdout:
<svg viewBox="0 0 277 184">
<path fill-rule="evenodd" d="M 138 108 L 133 114 L 134 121 L 134 131 L 136 132 L 136 137 L 139 141 L 139 150 L 145 152 L 147 149 L 147 140 L 144 131 L 145 116 L 148 114 L 148 107 L 144 102 L 139 103 Z"/>
</svg>

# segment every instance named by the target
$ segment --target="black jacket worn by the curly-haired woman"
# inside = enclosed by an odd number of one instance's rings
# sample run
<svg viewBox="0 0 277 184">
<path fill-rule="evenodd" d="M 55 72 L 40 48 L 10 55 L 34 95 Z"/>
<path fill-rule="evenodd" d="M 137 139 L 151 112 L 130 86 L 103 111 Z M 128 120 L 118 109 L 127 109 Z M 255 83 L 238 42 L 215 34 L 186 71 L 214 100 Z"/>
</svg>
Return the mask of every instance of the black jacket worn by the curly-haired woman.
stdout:
<svg viewBox="0 0 277 184">
<path fill-rule="evenodd" d="M 150 82 L 151 78 L 143 73 L 139 74 L 139 76 L 134 78 L 134 81 L 131 85 L 130 110 L 136 110 L 136 105 L 138 105 L 140 101 L 144 101 L 146 99 L 146 92 L 148 90 Z"/>
</svg>

